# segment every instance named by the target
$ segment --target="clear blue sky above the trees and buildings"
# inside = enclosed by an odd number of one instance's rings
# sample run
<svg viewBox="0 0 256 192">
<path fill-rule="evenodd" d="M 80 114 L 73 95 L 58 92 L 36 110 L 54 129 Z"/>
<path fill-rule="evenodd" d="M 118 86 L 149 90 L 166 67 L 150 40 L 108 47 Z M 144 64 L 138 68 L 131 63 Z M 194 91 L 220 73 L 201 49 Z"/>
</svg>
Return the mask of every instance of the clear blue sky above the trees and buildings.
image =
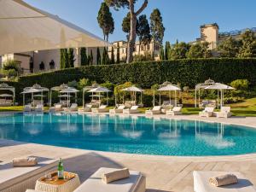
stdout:
<svg viewBox="0 0 256 192">
<path fill-rule="evenodd" d="M 32 6 L 84 28 L 102 38 L 96 17 L 103 0 L 25 0 Z M 137 0 L 137 7 L 143 0 Z M 200 26 L 218 23 L 220 32 L 256 26 L 255 0 L 148 0 L 143 14 L 149 16 L 160 9 L 166 27 L 164 41 L 190 42 L 200 37 Z M 128 9 L 111 9 L 115 30 L 109 41 L 125 40 L 122 20 Z"/>
</svg>

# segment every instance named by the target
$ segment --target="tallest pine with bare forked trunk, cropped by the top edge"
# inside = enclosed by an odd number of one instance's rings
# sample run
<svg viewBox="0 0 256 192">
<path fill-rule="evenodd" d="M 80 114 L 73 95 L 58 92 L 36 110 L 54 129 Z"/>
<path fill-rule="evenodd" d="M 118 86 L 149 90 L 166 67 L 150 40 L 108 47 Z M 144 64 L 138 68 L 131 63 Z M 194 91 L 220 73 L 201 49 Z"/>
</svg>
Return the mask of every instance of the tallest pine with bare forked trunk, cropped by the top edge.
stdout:
<svg viewBox="0 0 256 192">
<path fill-rule="evenodd" d="M 148 0 L 143 0 L 143 4 L 139 7 L 139 9 L 135 10 L 135 3 L 137 0 L 105 0 L 109 6 L 113 7 L 114 9 L 120 8 L 128 8 L 130 10 L 131 15 L 131 30 L 130 30 L 130 38 L 128 42 L 127 48 L 127 63 L 131 63 L 133 58 L 133 49 L 135 47 L 136 41 L 136 26 L 137 26 L 137 16 L 140 15 L 144 9 L 148 6 Z"/>
</svg>

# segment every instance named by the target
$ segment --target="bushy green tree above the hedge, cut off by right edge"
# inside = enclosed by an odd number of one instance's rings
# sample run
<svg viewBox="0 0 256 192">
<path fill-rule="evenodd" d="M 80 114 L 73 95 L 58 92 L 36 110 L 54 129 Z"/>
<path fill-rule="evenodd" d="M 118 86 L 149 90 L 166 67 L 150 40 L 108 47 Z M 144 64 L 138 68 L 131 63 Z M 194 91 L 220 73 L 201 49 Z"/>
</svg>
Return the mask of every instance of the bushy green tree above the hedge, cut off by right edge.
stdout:
<svg viewBox="0 0 256 192">
<path fill-rule="evenodd" d="M 240 58 L 256 57 L 256 38 L 251 30 L 241 35 L 241 48 L 237 56 Z"/>
</svg>

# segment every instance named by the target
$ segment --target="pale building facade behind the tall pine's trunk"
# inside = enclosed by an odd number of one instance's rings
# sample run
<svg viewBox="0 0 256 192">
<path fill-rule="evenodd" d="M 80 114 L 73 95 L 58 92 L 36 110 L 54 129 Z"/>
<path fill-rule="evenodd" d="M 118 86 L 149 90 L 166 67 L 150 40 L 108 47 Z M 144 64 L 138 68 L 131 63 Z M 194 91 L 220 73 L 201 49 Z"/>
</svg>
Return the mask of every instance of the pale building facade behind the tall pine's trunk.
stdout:
<svg viewBox="0 0 256 192">
<path fill-rule="evenodd" d="M 112 47 L 113 47 L 113 57 L 114 61 L 117 60 L 117 53 L 118 53 L 118 47 L 119 47 L 119 56 L 120 61 L 126 61 L 126 55 L 127 55 L 127 47 L 128 44 L 126 41 L 116 41 L 113 42 L 112 46 L 108 48 L 108 56 L 111 58 L 112 54 Z M 154 52 L 154 58 L 155 60 L 160 60 L 160 44 L 153 43 L 153 41 L 150 44 L 143 45 L 139 44 L 139 42 L 136 42 L 133 55 L 153 55 Z"/>
</svg>

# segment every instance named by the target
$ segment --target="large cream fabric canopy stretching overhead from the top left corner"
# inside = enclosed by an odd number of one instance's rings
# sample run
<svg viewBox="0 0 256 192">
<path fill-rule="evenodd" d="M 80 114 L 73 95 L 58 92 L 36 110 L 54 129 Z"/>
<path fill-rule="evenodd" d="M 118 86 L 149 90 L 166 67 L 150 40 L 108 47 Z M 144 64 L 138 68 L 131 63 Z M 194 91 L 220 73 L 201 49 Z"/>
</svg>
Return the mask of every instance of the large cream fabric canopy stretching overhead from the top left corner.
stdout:
<svg viewBox="0 0 256 192">
<path fill-rule="evenodd" d="M 0 55 L 107 45 L 79 26 L 21 0 L 1 0 L 0 8 Z"/>
</svg>

